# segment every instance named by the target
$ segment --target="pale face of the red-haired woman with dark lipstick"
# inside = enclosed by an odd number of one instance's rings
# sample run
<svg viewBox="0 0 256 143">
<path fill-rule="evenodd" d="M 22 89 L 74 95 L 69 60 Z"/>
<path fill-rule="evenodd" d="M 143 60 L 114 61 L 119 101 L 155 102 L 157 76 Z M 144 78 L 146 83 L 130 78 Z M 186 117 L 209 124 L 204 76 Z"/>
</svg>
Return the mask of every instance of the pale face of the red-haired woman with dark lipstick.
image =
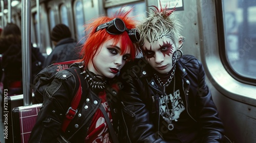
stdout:
<svg viewBox="0 0 256 143">
<path fill-rule="evenodd" d="M 120 42 L 114 46 L 113 40 L 104 42 L 96 51 L 92 61 L 88 64 L 88 69 L 96 75 L 106 78 L 114 78 L 118 71 L 124 66 L 130 57 L 130 48 L 121 55 Z"/>
</svg>

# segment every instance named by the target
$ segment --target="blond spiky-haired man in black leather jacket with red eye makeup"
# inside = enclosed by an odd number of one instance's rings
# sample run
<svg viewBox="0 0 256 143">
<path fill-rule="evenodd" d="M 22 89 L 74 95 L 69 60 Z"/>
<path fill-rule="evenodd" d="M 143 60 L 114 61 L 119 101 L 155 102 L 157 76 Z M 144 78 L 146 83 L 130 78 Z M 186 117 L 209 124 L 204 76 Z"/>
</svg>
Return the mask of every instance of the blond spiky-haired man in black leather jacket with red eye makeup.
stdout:
<svg viewBox="0 0 256 143">
<path fill-rule="evenodd" d="M 119 75 L 125 138 L 128 142 L 222 142 L 223 124 L 204 68 L 194 56 L 182 56 L 182 26 L 175 9 L 153 9 L 137 26 L 143 57 L 128 62 Z"/>
</svg>

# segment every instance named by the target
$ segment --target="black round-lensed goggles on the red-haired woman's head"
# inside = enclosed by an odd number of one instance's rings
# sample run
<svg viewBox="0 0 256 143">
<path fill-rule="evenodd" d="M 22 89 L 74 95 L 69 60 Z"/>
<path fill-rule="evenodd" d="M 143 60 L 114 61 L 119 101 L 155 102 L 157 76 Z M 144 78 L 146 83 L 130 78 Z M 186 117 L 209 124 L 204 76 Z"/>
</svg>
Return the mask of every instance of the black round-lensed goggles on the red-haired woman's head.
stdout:
<svg viewBox="0 0 256 143">
<path fill-rule="evenodd" d="M 136 29 L 127 29 L 125 27 L 125 24 L 122 19 L 120 18 L 115 18 L 109 22 L 103 23 L 99 25 L 96 29 L 96 32 L 101 30 L 101 29 L 106 29 L 106 32 L 112 35 L 118 35 L 123 33 L 124 31 L 127 31 L 130 39 L 132 42 L 138 42 L 140 39 L 140 34 Z"/>
</svg>

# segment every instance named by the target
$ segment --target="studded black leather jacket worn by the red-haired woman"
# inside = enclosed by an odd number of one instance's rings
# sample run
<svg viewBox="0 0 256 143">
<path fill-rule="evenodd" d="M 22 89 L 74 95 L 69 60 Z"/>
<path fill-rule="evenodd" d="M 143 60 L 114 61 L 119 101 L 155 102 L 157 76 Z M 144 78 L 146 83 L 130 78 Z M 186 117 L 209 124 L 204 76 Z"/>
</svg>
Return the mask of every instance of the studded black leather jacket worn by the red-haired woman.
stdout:
<svg viewBox="0 0 256 143">
<path fill-rule="evenodd" d="M 61 124 L 63 118 L 66 117 L 65 114 L 68 108 L 71 106 L 77 81 L 68 70 L 62 70 L 56 74 L 55 79 L 45 88 L 44 103 L 38 112 L 37 122 L 31 132 L 29 142 L 59 142 L 60 140 L 64 142 L 67 140 L 69 142 L 84 142 L 101 100 L 92 91 L 92 87 L 88 85 L 86 80 L 80 80 L 83 82 L 81 84 L 82 92 L 85 92 L 86 96 L 84 96 L 84 93 L 82 94 L 78 112 L 70 122 L 66 132 L 63 133 Z M 117 130 L 117 91 L 111 87 L 107 87 L 105 91 L 112 113 L 113 126 Z"/>
</svg>

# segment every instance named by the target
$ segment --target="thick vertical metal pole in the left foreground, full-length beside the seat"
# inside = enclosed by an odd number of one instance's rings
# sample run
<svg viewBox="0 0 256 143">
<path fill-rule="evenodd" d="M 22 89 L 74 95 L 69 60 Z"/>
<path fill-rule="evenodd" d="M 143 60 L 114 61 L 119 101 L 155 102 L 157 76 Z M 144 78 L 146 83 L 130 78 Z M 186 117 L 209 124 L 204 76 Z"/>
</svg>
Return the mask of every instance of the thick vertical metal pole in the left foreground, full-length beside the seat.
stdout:
<svg viewBox="0 0 256 143">
<path fill-rule="evenodd" d="M 22 1 L 22 71 L 24 106 L 32 105 L 31 81 L 31 7 L 30 0 Z"/>
</svg>

